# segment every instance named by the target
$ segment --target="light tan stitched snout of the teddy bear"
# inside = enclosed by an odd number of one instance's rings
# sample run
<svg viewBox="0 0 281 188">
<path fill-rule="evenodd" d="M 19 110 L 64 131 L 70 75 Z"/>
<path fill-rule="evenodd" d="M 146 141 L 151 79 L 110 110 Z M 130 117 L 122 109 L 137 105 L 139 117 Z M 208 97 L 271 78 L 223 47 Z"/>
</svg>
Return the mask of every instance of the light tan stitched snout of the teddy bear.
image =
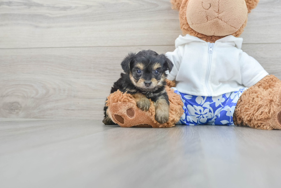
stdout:
<svg viewBox="0 0 281 188">
<path fill-rule="evenodd" d="M 246 21 L 247 14 L 245 0 L 189 0 L 186 9 L 189 26 L 207 36 L 235 33 Z"/>
</svg>

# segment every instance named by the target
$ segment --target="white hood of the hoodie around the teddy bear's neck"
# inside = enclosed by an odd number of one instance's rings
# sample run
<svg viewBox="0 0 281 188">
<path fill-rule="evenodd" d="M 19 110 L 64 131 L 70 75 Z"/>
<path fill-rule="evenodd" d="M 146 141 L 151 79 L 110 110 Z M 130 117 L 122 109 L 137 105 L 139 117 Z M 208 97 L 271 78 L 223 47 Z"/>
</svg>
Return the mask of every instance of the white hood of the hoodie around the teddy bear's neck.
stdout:
<svg viewBox="0 0 281 188">
<path fill-rule="evenodd" d="M 179 37 L 175 40 L 175 47 L 177 48 L 179 45 L 186 44 L 189 42 L 195 42 L 195 41 L 207 43 L 206 41 L 201 40 L 200 38 L 198 38 L 196 36 L 190 36 L 189 34 L 187 34 L 186 36 L 179 35 Z M 218 43 L 218 42 L 228 43 L 229 45 L 233 45 L 236 48 L 241 49 L 243 38 L 235 37 L 233 35 L 228 35 L 224 38 L 216 40 L 215 43 Z"/>
</svg>

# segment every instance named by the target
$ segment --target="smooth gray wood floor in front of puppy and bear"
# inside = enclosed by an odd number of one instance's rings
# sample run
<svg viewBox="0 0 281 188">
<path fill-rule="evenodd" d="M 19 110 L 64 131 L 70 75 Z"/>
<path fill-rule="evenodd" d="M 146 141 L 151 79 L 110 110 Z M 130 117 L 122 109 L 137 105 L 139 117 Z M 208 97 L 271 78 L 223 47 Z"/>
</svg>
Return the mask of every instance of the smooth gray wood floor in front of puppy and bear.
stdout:
<svg viewBox="0 0 281 188">
<path fill-rule="evenodd" d="M 0 187 L 280 187 L 280 131 L 0 119 Z"/>
</svg>

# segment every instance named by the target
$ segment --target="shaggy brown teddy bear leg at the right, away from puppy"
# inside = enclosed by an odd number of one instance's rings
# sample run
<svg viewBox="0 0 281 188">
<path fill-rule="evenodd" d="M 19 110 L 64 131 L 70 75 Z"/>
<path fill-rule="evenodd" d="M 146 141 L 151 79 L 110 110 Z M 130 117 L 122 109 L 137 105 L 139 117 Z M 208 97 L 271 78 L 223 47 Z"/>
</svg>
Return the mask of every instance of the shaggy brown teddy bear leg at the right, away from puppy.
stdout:
<svg viewBox="0 0 281 188">
<path fill-rule="evenodd" d="M 243 92 L 233 121 L 235 125 L 257 129 L 281 129 L 281 81 L 274 75 L 264 77 Z"/>
</svg>

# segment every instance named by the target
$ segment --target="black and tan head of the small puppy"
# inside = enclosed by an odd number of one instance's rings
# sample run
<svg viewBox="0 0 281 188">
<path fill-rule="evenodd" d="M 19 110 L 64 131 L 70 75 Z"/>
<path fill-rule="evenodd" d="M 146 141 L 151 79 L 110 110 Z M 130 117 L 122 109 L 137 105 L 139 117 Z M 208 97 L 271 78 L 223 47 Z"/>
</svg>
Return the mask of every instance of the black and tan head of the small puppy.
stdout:
<svg viewBox="0 0 281 188">
<path fill-rule="evenodd" d="M 143 50 L 139 53 L 129 53 L 121 63 L 125 73 L 130 75 L 131 82 L 142 91 L 155 91 L 165 85 L 167 74 L 173 63 L 163 54 Z"/>
</svg>

